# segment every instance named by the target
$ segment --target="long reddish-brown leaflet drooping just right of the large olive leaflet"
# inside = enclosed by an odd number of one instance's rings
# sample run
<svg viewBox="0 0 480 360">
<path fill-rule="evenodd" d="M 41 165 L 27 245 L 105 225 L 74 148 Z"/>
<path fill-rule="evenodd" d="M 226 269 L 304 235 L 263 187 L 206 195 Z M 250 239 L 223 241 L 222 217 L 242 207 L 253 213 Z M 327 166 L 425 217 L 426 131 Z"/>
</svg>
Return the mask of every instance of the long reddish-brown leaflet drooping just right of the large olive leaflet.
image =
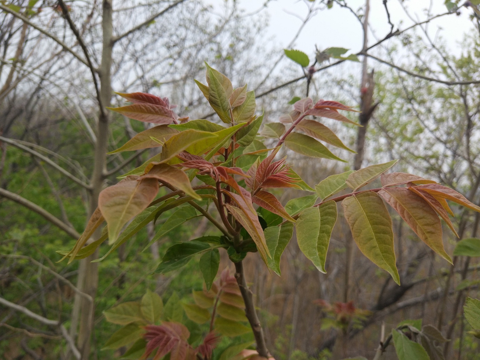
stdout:
<svg viewBox="0 0 480 360">
<path fill-rule="evenodd" d="M 444 250 L 440 219 L 423 198 L 405 188 L 386 188 L 378 193 L 423 242 L 452 264 L 452 259 Z"/>
</svg>

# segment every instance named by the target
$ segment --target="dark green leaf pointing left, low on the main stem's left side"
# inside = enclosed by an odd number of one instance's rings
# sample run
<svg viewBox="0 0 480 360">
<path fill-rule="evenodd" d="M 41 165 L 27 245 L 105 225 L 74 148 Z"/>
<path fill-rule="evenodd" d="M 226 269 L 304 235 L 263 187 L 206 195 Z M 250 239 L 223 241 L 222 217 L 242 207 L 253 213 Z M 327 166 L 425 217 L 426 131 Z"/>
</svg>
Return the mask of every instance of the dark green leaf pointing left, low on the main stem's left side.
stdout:
<svg viewBox="0 0 480 360">
<path fill-rule="evenodd" d="M 166 274 L 186 265 L 193 256 L 210 249 L 210 245 L 202 241 L 185 241 L 172 245 L 162 258 L 155 272 Z"/>
</svg>

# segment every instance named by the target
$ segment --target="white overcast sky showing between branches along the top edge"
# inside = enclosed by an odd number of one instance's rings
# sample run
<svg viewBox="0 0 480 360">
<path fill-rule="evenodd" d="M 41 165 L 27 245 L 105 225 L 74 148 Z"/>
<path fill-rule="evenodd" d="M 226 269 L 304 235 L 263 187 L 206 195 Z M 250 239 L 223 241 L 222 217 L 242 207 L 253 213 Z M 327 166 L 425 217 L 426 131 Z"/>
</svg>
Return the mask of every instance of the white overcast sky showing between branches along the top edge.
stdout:
<svg viewBox="0 0 480 360">
<path fill-rule="evenodd" d="M 214 6 L 219 6 L 224 1 L 207 0 Z M 237 2 L 241 8 L 250 13 L 260 9 L 264 0 L 237 0 Z M 348 0 L 347 2 L 354 10 L 359 9 L 365 3 L 364 0 Z M 408 6 L 412 16 L 417 17 L 420 21 L 427 18 L 425 12 L 430 6 L 430 0 L 405 0 L 404 3 Z M 444 0 L 432 0 L 432 3 L 432 14 L 446 12 Z M 399 27 L 402 30 L 413 24 L 400 6 L 400 0 L 389 0 L 388 8 L 395 29 Z M 274 37 L 279 46 L 286 47 L 301 25 L 300 19 L 292 13 L 303 18 L 307 14 L 307 7 L 302 0 L 273 0 L 262 12 L 269 14 L 267 37 Z M 460 16 L 452 14 L 432 21 L 429 24 L 430 35 L 433 38 L 441 27 L 441 36 L 446 39 L 449 47 L 455 51 L 463 35 L 471 29 L 472 23 L 468 18 L 469 12 L 471 10 L 462 8 Z M 390 26 L 387 23 L 382 0 L 371 0 L 369 23 L 378 38 L 384 37 L 389 32 Z M 373 36 L 370 36 L 369 42 L 370 44 L 375 42 Z M 360 23 L 348 9 L 340 8 L 337 4 L 334 4 L 333 9 L 320 11 L 310 20 L 292 48 L 312 55 L 315 45 L 319 49 L 341 47 L 358 52 L 362 46 Z"/>
</svg>

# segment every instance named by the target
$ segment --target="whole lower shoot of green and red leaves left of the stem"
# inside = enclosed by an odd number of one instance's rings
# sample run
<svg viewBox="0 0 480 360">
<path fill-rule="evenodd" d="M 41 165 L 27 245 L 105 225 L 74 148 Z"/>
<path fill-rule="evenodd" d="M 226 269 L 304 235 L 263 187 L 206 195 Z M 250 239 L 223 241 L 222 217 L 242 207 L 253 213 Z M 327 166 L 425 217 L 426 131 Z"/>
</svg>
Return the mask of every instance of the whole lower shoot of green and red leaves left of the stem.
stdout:
<svg viewBox="0 0 480 360">
<path fill-rule="evenodd" d="M 171 360 L 211 359 L 220 335 L 251 333 L 240 288 L 228 269 L 222 271 L 209 290 L 193 291 L 192 298 L 194 303 L 181 301 L 174 293 L 164 306 L 160 296 L 148 291 L 141 301 L 124 302 L 109 309 L 104 312 L 107 321 L 123 327 L 108 339 L 104 348 L 132 344 L 122 359 L 146 359 L 153 355 L 157 360 L 167 354 Z M 184 313 L 196 324 L 209 324 L 201 341 L 191 338 Z M 234 357 L 251 344 L 247 341 L 225 349 L 222 359 Z"/>
</svg>

